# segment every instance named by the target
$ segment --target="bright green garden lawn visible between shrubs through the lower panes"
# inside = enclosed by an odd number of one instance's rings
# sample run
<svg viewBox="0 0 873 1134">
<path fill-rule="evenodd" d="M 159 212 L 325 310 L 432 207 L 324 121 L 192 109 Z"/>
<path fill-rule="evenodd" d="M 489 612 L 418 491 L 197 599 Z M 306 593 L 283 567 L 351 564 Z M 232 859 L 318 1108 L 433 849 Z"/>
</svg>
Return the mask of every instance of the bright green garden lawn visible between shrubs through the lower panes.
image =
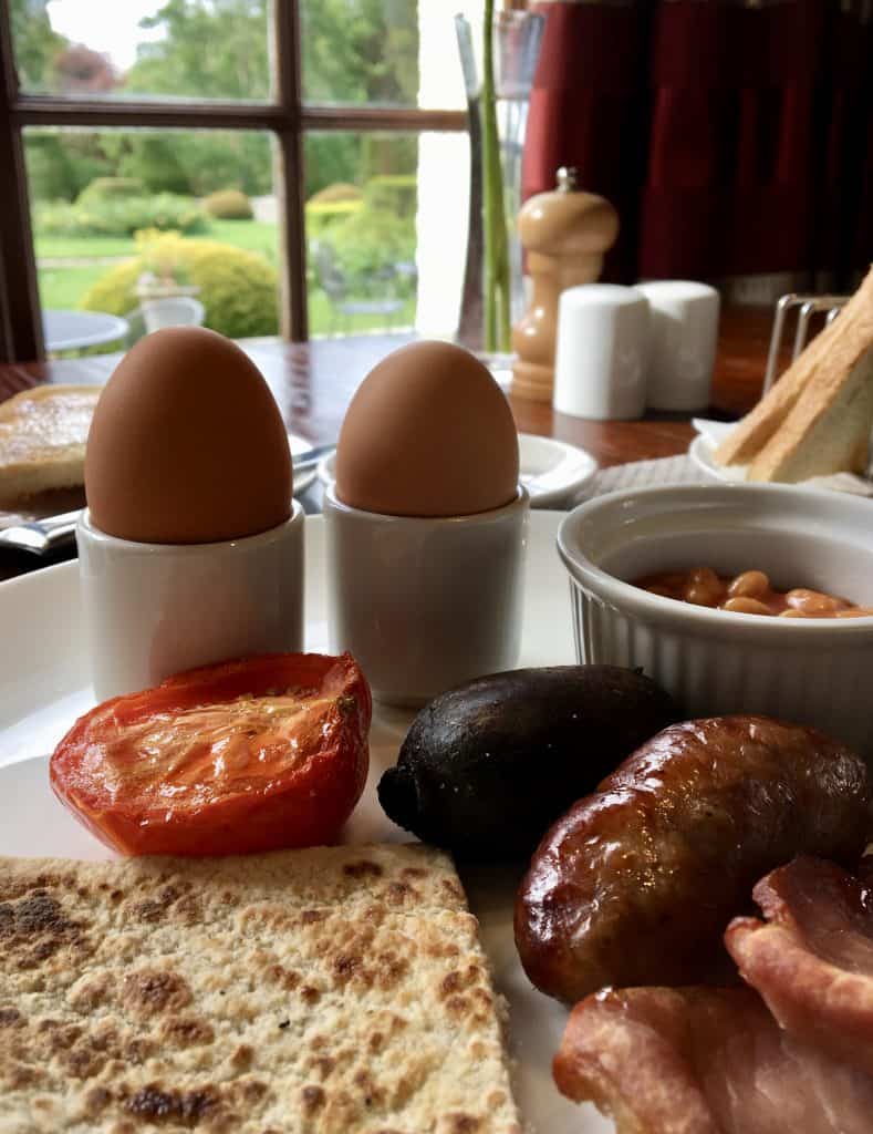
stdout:
<svg viewBox="0 0 873 1134">
<path fill-rule="evenodd" d="M 216 220 L 208 234 L 223 244 L 258 252 L 275 264 L 277 262 L 277 226 L 256 220 Z M 57 237 L 36 234 L 36 259 L 86 260 L 104 256 L 132 256 L 132 238 L 119 237 Z M 108 264 L 93 266 L 41 268 L 40 299 L 43 307 L 77 307 L 87 289 L 110 270 Z M 393 328 L 411 327 L 416 318 L 414 299 L 406 301 L 393 321 Z M 311 335 L 356 335 L 384 328 L 384 315 L 354 315 L 351 319 L 333 316 L 331 302 L 320 289 L 309 291 L 309 329 Z"/>
</svg>

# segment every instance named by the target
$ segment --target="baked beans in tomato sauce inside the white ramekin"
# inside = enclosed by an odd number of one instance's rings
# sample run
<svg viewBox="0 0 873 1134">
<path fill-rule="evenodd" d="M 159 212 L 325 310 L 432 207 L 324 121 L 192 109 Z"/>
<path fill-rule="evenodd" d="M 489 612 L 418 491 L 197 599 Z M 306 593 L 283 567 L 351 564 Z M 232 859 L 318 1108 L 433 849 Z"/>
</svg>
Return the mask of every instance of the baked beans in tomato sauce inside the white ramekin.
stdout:
<svg viewBox="0 0 873 1134">
<path fill-rule="evenodd" d="M 733 613 L 777 615 L 780 618 L 862 618 L 873 616 L 873 607 L 856 607 L 848 599 L 810 587 L 777 591 L 769 576 L 756 568 L 733 578 L 717 575 L 710 567 L 690 572 L 664 572 L 636 581 L 636 586 L 666 599 L 718 608 Z"/>
</svg>

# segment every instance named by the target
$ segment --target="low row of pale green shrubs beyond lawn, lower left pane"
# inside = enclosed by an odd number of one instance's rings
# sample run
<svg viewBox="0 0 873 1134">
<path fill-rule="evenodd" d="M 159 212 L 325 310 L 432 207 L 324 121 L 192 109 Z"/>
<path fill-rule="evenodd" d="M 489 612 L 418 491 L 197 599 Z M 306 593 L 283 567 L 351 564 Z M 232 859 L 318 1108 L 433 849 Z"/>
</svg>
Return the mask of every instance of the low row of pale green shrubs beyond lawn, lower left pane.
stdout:
<svg viewBox="0 0 873 1134">
<path fill-rule="evenodd" d="M 131 236 L 142 228 L 194 234 L 209 227 L 195 201 L 171 193 L 97 198 L 75 205 L 44 204 L 35 210 L 35 221 L 40 236 Z"/>
</svg>

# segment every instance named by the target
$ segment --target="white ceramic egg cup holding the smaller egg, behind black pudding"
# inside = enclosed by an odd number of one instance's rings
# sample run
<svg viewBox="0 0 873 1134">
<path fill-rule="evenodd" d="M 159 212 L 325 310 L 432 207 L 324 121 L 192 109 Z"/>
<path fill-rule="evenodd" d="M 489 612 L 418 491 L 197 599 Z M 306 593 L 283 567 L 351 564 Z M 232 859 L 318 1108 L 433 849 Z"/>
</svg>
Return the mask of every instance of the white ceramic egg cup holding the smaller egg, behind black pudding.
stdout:
<svg viewBox="0 0 873 1134">
<path fill-rule="evenodd" d="M 331 649 L 349 650 L 377 701 L 421 705 L 511 669 L 521 641 L 530 499 L 472 516 L 383 516 L 325 490 Z"/>
</svg>

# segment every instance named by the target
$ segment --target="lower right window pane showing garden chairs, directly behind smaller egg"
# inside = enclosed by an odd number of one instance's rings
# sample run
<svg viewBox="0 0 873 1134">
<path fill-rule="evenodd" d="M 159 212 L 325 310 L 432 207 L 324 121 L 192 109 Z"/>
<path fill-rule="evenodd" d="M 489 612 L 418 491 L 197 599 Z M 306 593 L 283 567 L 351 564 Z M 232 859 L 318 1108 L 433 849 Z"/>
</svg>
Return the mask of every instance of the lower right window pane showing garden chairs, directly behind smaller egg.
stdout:
<svg viewBox="0 0 873 1134">
<path fill-rule="evenodd" d="M 309 328 L 457 325 L 469 194 L 464 134 L 309 133 Z"/>
</svg>

